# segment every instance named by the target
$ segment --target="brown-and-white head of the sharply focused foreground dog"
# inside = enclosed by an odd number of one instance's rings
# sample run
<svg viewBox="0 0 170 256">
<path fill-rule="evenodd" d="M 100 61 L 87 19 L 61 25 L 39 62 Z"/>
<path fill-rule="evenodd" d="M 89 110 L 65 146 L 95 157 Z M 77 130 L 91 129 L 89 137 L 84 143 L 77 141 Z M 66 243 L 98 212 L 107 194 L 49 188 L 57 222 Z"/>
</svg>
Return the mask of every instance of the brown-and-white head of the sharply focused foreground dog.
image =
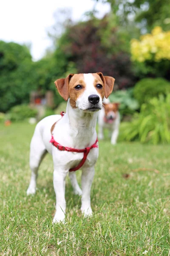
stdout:
<svg viewBox="0 0 170 256">
<path fill-rule="evenodd" d="M 72 108 L 84 112 L 95 112 L 102 108 L 102 99 L 113 90 L 114 78 L 102 73 L 70 74 L 58 79 L 55 85 L 63 99 L 70 98 Z"/>
</svg>

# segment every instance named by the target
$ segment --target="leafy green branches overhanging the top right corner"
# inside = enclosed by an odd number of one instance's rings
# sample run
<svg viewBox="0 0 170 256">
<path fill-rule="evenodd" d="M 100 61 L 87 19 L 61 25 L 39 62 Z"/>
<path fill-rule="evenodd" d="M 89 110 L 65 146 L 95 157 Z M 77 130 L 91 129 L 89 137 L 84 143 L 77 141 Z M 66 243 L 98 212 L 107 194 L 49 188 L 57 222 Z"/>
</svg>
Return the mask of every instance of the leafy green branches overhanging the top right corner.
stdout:
<svg viewBox="0 0 170 256">
<path fill-rule="evenodd" d="M 161 26 L 165 31 L 170 29 L 169 0 L 94 0 L 108 2 L 111 11 L 119 23 L 126 25 L 135 21 L 144 32 L 150 32 L 155 26 Z"/>
</svg>

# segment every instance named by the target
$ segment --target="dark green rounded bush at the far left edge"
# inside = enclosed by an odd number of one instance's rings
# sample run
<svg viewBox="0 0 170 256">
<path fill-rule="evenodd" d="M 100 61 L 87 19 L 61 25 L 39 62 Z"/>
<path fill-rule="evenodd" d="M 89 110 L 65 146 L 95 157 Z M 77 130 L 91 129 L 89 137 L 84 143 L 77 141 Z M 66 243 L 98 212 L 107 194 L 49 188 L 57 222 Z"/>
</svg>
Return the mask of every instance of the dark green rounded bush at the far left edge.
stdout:
<svg viewBox="0 0 170 256">
<path fill-rule="evenodd" d="M 0 41 L 0 111 L 29 102 L 31 64 L 26 46 Z"/>
</svg>

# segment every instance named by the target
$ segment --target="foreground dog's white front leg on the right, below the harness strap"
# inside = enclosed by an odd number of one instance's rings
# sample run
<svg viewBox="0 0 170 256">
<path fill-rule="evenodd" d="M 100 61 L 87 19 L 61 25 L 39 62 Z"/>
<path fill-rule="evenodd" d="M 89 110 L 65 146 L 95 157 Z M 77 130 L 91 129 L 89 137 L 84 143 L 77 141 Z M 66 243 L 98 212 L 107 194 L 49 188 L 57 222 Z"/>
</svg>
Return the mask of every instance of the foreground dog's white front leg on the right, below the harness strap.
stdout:
<svg viewBox="0 0 170 256">
<path fill-rule="evenodd" d="M 82 169 L 82 206 L 81 211 L 85 216 L 92 215 L 91 209 L 91 184 L 94 178 L 94 166 Z"/>
</svg>

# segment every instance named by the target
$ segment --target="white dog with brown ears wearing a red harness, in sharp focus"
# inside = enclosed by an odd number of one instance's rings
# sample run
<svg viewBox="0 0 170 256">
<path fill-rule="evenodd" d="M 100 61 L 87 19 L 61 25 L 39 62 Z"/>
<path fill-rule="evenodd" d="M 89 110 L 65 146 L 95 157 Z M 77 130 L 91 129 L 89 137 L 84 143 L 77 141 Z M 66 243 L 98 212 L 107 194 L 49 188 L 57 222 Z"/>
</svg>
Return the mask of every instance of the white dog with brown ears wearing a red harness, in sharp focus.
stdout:
<svg viewBox="0 0 170 256">
<path fill-rule="evenodd" d="M 47 152 L 52 154 L 56 194 L 54 223 L 65 219 L 65 177 L 69 171 L 74 193 L 82 195 L 82 213 L 92 215 L 90 191 L 99 155 L 97 112 L 102 109 L 104 96 L 108 98 L 111 94 L 114 80 L 102 73 L 70 74 L 58 79 L 55 85 L 59 94 L 68 100 L 66 113 L 62 118 L 47 116 L 35 128 L 30 145 L 31 181 L 27 195 L 35 194 L 38 167 Z M 82 190 L 74 172 L 80 167 Z"/>
</svg>

